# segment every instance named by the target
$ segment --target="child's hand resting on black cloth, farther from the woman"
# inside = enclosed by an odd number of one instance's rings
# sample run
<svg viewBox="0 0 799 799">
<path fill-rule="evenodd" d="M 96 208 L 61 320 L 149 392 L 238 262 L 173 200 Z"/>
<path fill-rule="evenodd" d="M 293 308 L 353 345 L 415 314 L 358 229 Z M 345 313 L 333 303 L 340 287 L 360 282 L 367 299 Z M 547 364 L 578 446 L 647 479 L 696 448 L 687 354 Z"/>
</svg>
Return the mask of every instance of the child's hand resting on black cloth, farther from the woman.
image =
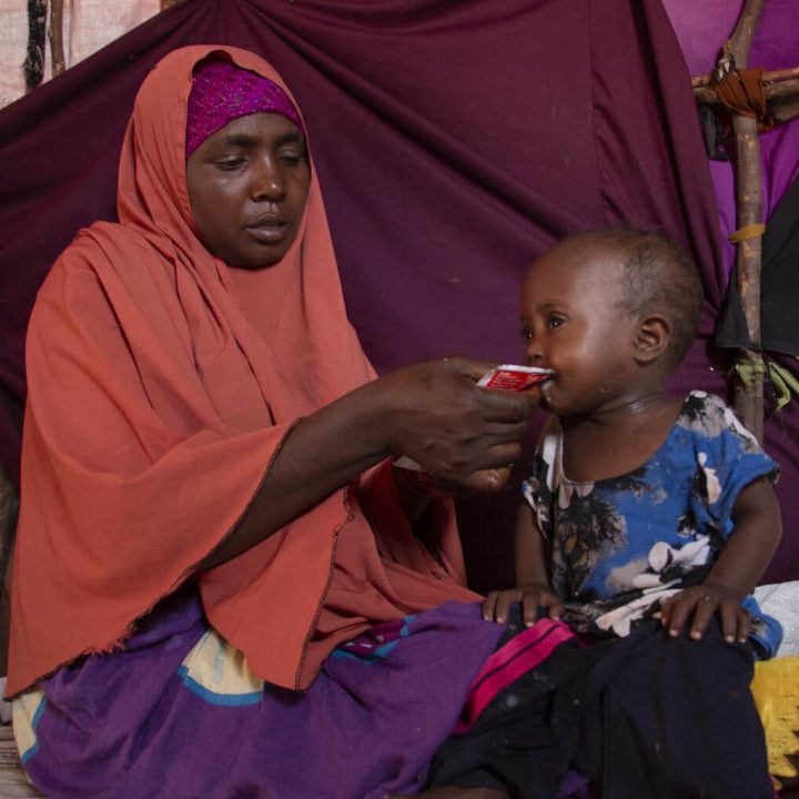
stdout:
<svg viewBox="0 0 799 799">
<path fill-rule="evenodd" d="M 742 644 L 747 640 L 751 629 L 749 614 L 724 586 L 698 585 L 670 596 L 663 604 L 660 620 L 668 628 L 669 635 L 677 637 L 692 615 L 690 637 L 700 640 L 715 614 L 721 621 L 721 634 L 726 641 L 731 644 L 738 640 Z"/>
</svg>

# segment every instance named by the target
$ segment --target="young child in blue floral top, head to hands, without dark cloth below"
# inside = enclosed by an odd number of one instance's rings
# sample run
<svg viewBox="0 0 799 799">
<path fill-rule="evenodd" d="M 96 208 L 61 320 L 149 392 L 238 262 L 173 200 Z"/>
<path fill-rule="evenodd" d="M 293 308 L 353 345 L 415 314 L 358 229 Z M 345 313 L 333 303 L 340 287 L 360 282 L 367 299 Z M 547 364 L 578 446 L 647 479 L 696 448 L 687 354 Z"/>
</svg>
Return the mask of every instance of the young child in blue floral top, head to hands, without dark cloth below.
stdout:
<svg viewBox="0 0 799 799">
<path fill-rule="evenodd" d="M 690 346 L 699 276 L 680 249 L 638 231 L 568 239 L 538 259 L 522 291 L 527 361 L 555 371 L 552 416 L 516 528 L 517 587 L 492 593 L 581 631 L 625 636 L 659 614 L 669 635 L 701 639 L 717 616 L 727 641 L 773 655 L 779 625 L 751 590 L 780 538 L 778 467 L 721 400 L 666 393 Z"/>
</svg>

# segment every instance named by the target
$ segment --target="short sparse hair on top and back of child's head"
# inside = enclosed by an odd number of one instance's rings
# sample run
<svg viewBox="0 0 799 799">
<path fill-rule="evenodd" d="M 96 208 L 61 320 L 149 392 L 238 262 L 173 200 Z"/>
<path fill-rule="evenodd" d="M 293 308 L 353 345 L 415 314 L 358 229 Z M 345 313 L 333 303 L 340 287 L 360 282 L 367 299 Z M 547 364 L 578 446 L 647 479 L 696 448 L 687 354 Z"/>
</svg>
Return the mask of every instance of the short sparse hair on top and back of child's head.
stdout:
<svg viewBox="0 0 799 799">
<path fill-rule="evenodd" d="M 596 242 L 619 253 L 618 304 L 631 316 L 657 311 L 669 317 L 669 368 L 675 368 L 696 337 L 702 299 L 699 273 L 682 249 L 659 233 L 627 227 L 586 231 L 568 241 Z"/>
</svg>

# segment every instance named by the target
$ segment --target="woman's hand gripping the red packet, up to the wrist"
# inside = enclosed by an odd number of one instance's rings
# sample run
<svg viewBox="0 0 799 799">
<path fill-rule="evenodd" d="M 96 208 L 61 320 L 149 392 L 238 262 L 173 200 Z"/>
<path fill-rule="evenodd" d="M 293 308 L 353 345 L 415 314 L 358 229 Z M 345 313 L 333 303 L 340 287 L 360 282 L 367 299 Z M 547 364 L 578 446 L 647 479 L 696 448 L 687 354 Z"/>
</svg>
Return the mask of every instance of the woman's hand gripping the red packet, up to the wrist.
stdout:
<svg viewBox="0 0 799 799">
<path fill-rule="evenodd" d="M 494 364 L 453 357 L 397 370 L 372 384 L 385 408 L 387 446 L 436 479 L 498 490 L 522 454 L 520 438 L 538 392 L 482 388 Z"/>
</svg>

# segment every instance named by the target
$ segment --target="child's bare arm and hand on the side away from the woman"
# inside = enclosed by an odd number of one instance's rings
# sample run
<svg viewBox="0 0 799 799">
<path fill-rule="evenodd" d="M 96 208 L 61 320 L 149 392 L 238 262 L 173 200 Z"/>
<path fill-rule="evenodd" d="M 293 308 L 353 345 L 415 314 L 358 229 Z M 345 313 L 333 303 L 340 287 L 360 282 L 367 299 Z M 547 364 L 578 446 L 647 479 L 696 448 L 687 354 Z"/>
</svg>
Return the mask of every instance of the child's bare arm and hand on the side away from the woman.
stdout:
<svg viewBox="0 0 799 799">
<path fill-rule="evenodd" d="M 692 615 L 690 636 L 699 640 L 714 614 L 718 614 L 726 640 L 745 641 L 749 637 L 751 623 L 740 601 L 755 589 L 782 534 L 779 504 L 766 477 L 741 490 L 731 518 L 732 534 L 702 585 L 664 603 L 663 624 L 671 636 L 678 636 Z"/>
</svg>

